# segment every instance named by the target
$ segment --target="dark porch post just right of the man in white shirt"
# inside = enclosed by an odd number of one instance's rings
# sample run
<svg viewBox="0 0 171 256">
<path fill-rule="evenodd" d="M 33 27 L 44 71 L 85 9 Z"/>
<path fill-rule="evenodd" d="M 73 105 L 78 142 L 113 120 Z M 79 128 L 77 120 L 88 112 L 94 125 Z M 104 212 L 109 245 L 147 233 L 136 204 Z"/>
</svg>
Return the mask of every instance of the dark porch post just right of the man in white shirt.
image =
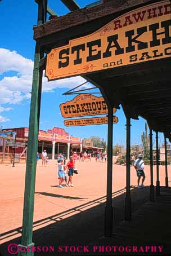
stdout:
<svg viewBox="0 0 171 256">
<path fill-rule="evenodd" d="M 153 184 L 153 159 L 152 159 L 152 129 L 150 129 L 150 201 L 154 202 L 154 184 Z"/>
</svg>

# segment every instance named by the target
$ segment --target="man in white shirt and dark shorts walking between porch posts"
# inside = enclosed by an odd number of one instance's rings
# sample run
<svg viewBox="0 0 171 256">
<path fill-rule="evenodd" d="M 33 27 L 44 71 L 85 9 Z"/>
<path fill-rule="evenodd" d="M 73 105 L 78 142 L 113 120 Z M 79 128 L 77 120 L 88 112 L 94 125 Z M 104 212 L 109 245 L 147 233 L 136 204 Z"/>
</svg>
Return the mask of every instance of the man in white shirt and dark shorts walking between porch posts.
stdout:
<svg viewBox="0 0 171 256">
<path fill-rule="evenodd" d="M 138 177 L 138 180 L 137 180 L 137 183 L 138 183 L 138 188 L 143 188 L 144 185 L 143 185 L 143 182 L 145 181 L 145 172 L 144 172 L 144 162 L 142 160 L 142 154 L 139 154 L 138 155 L 138 158 L 136 159 L 136 161 L 134 162 L 134 168 L 136 169 L 137 171 L 137 177 Z M 142 176 L 142 184 L 140 186 L 140 179 L 141 179 L 141 176 Z"/>
</svg>

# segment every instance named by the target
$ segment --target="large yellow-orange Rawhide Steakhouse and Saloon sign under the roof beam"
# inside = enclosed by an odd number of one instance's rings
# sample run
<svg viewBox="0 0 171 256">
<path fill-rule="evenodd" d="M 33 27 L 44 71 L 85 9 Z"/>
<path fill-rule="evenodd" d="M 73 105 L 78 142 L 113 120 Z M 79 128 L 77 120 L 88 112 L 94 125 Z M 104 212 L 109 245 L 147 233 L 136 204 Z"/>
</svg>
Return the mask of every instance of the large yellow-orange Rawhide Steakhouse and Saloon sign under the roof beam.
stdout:
<svg viewBox="0 0 171 256">
<path fill-rule="evenodd" d="M 117 17 L 47 55 L 48 80 L 171 57 L 171 3 L 151 3 Z"/>
</svg>

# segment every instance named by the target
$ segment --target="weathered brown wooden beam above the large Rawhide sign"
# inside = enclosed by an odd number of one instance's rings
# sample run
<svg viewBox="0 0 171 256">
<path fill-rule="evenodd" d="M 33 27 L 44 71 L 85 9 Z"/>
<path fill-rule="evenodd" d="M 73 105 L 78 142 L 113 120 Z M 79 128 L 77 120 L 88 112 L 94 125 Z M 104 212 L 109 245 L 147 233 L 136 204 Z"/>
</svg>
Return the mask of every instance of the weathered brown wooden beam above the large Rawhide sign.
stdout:
<svg viewBox="0 0 171 256">
<path fill-rule="evenodd" d="M 53 20 L 53 23 L 48 21 L 43 25 L 43 28 L 42 26 L 34 27 L 35 40 L 62 30 L 66 30 L 70 27 L 75 27 L 89 21 L 97 20 L 101 17 L 105 17 L 105 21 L 113 20 L 114 17 L 116 17 L 117 12 L 127 12 L 128 8 L 147 5 L 149 0 L 129 1 L 129 3 L 128 1 L 126 3 L 122 3 L 122 1 L 109 1 L 92 8 L 82 8 L 80 10 L 78 10 L 79 6 L 76 3 L 74 4 L 74 1 L 62 0 L 62 2 L 65 2 L 66 6 L 68 5 L 68 8 L 71 11 L 76 11 L 70 12 L 69 14 L 61 17 L 57 17 Z M 106 22 L 104 24 L 106 24 Z"/>
</svg>

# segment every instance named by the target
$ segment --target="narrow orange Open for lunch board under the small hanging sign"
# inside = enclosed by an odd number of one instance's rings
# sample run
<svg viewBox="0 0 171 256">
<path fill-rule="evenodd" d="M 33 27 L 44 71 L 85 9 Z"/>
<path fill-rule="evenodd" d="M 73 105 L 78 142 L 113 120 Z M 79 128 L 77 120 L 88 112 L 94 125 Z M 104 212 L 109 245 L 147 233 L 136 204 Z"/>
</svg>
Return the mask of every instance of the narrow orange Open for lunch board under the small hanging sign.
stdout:
<svg viewBox="0 0 171 256">
<path fill-rule="evenodd" d="M 65 126 L 107 125 L 107 123 L 107 117 L 82 118 L 64 121 Z M 113 117 L 113 123 L 118 123 L 118 117 Z"/>
</svg>

